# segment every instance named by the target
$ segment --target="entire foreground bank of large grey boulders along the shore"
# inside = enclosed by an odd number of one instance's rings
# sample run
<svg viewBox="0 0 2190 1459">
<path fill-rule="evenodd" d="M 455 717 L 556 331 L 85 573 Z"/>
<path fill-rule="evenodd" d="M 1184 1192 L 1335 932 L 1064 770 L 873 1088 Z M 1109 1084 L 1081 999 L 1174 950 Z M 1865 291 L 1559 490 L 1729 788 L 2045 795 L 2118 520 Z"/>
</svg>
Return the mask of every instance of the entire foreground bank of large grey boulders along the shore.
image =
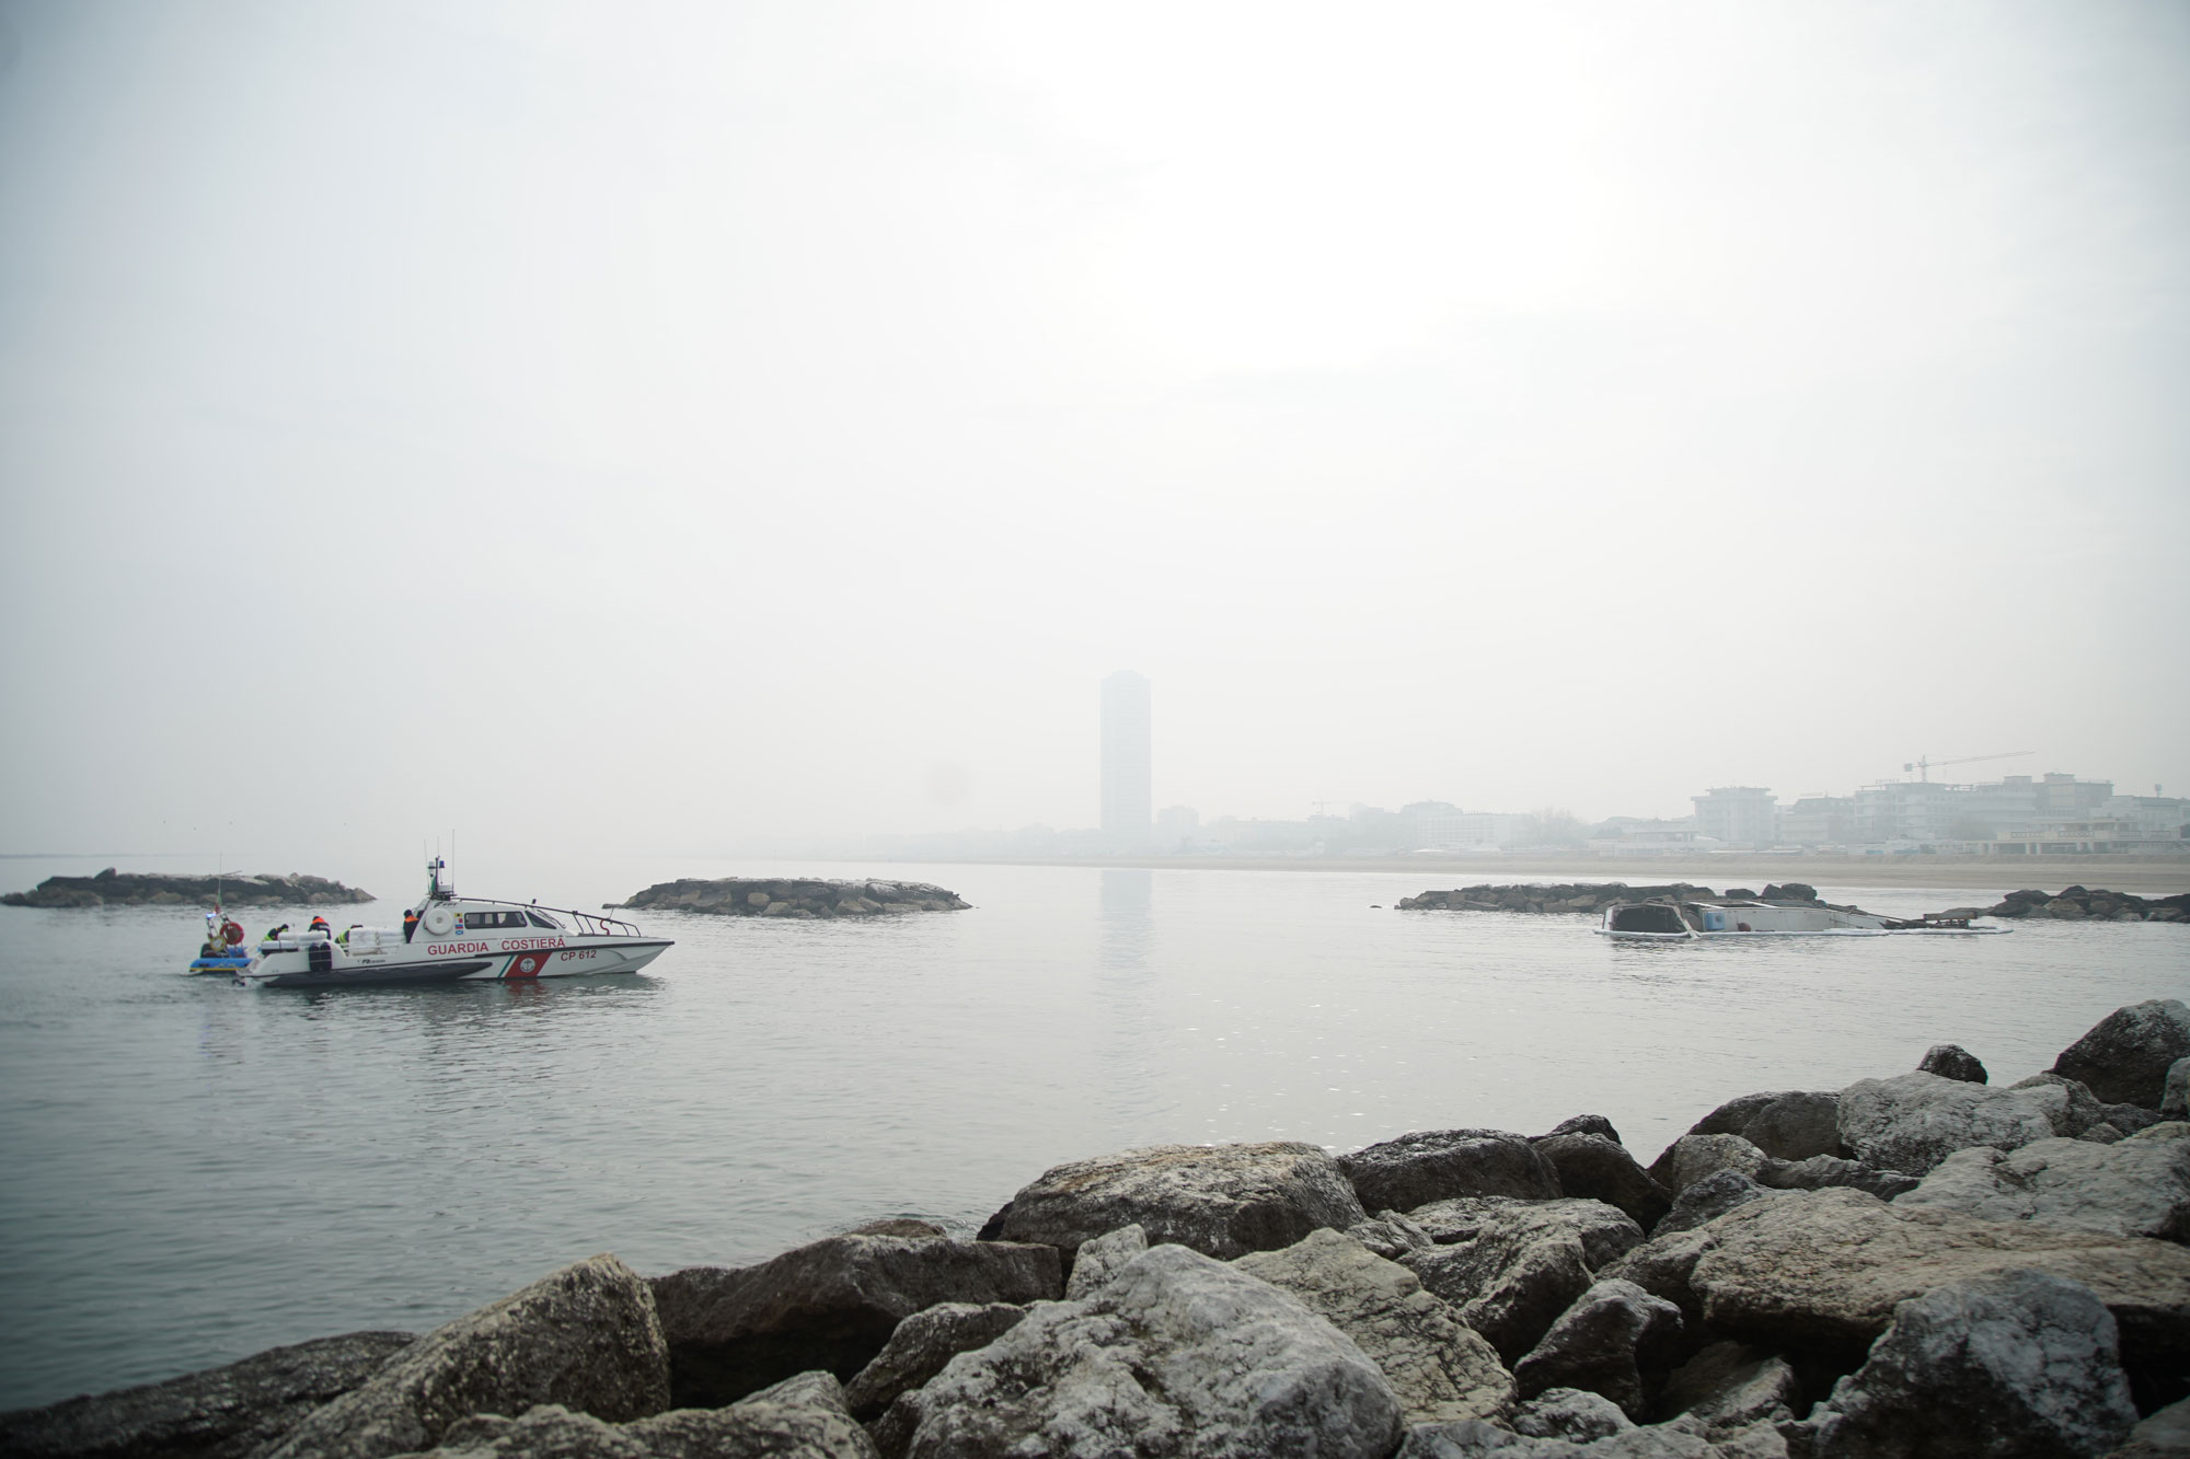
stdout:
<svg viewBox="0 0 2190 1459">
<path fill-rule="evenodd" d="M 304 1459 L 2151 1459 L 2190 1448 L 2190 1008 L 1993 1084 L 1958 1045 L 1745 1093 L 1649 1165 L 1603 1115 L 1347 1154 L 1056 1165 L 972 1238 L 554 1271 L 0 1415 L 0 1452 Z"/>
</svg>

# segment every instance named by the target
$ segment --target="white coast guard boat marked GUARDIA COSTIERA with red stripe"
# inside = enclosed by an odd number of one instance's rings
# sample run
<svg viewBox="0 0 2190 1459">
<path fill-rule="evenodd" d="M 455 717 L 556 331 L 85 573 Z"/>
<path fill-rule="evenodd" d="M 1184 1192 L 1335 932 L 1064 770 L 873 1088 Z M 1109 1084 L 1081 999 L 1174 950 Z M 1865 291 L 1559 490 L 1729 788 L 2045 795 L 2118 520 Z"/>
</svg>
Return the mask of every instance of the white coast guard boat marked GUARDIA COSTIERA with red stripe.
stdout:
<svg viewBox="0 0 2190 1459">
<path fill-rule="evenodd" d="M 427 863 L 427 894 L 403 914 L 401 929 L 283 931 L 258 944 L 237 981 L 361 988 L 589 977 L 637 973 L 672 946 L 598 911 L 458 896 L 440 857 Z"/>
</svg>

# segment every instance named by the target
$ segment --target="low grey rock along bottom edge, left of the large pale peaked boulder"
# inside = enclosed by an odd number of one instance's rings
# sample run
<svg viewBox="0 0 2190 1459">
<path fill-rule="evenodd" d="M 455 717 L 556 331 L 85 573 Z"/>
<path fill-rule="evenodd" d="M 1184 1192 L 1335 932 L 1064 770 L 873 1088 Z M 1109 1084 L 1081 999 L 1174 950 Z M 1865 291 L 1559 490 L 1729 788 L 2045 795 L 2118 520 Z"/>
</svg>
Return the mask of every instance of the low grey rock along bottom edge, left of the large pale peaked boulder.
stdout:
<svg viewBox="0 0 2190 1459">
<path fill-rule="evenodd" d="M 604 1424 L 558 1404 L 508 1420 L 458 1420 L 431 1459 L 876 1459 L 874 1439 L 852 1422 L 828 1374 L 799 1374 L 727 1409 L 672 1409 Z M 425 1457 L 418 1457 L 425 1459 Z"/>
</svg>

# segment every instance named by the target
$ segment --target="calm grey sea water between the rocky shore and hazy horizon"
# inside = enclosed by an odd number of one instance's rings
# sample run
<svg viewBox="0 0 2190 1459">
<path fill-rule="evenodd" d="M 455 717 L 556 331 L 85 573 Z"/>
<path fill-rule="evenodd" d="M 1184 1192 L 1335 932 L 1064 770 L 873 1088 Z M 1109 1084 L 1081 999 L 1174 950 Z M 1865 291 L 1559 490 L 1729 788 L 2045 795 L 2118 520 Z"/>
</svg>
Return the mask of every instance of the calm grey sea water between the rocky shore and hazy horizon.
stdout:
<svg viewBox="0 0 2190 1459">
<path fill-rule="evenodd" d="M 740 870 L 788 868 L 683 874 Z M 1737 1093 L 1949 1038 L 2013 1080 L 2120 1003 L 2190 997 L 2172 924 L 1627 946 L 1393 911 L 1424 874 L 810 870 L 975 909 L 650 916 L 677 946 L 639 977 L 339 995 L 184 977 L 191 907 L 0 909 L 0 1409 L 423 1330 L 596 1251 L 670 1271 L 891 1214 L 968 1229 L 1132 1144 L 1594 1111 L 1649 1159 Z"/>
</svg>

